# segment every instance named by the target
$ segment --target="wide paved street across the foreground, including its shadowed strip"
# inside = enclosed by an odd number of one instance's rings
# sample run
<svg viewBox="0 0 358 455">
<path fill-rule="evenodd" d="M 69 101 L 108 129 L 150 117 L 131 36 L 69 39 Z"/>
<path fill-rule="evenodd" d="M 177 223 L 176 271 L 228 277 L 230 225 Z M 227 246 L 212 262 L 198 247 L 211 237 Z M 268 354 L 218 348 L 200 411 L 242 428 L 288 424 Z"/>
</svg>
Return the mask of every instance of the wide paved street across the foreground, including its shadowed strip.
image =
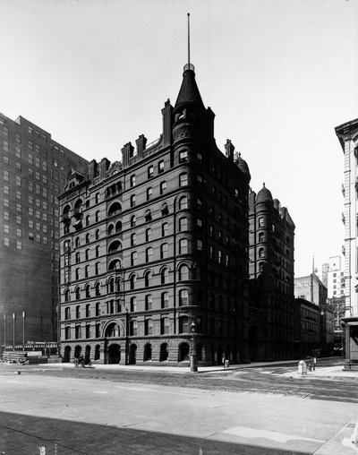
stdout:
<svg viewBox="0 0 358 455">
<path fill-rule="evenodd" d="M 131 373 L 3 370 L 0 454 L 358 453 L 356 392 L 345 395 L 356 382 L 340 382 L 339 392 L 339 382 L 322 381 L 320 395 L 320 380 L 314 385 L 267 369 Z"/>
</svg>

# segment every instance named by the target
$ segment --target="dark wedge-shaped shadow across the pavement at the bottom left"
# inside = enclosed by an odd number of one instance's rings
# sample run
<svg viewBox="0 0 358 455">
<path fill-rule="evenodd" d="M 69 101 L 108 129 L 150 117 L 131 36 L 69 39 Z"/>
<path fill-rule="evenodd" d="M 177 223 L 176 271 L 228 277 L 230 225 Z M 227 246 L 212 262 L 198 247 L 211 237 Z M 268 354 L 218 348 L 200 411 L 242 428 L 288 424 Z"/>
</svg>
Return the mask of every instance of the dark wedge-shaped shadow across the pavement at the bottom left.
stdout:
<svg viewBox="0 0 358 455">
<path fill-rule="evenodd" d="M 94 409 L 94 412 L 95 409 Z M 303 453 L 183 435 L 0 412 L 1 455 L 287 455 Z"/>
</svg>

